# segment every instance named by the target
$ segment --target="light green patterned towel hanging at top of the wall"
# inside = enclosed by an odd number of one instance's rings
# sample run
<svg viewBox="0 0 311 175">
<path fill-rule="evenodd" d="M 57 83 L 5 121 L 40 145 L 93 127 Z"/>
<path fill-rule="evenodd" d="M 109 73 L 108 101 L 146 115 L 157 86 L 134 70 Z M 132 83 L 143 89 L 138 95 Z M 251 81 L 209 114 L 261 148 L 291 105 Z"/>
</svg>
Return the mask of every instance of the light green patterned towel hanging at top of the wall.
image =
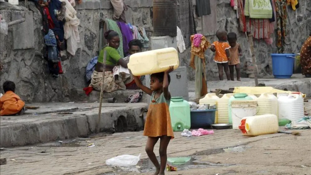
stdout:
<svg viewBox="0 0 311 175">
<path fill-rule="evenodd" d="M 270 0 L 245 0 L 245 9 L 248 8 L 250 18 L 272 18 L 272 6 Z"/>
</svg>

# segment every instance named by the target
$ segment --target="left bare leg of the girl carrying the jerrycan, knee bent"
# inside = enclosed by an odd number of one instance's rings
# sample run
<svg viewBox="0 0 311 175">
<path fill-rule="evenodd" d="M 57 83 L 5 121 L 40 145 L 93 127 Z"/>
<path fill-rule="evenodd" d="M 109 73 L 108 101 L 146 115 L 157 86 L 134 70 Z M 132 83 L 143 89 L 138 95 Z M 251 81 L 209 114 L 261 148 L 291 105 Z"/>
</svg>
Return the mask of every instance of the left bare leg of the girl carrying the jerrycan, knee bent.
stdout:
<svg viewBox="0 0 311 175">
<path fill-rule="evenodd" d="M 158 140 L 159 140 L 158 137 L 148 137 L 145 148 L 148 157 L 150 158 L 153 165 L 156 167 L 156 172 L 154 173 L 154 175 L 158 175 L 160 172 L 160 164 L 153 152 L 154 145 L 158 142 Z"/>
</svg>

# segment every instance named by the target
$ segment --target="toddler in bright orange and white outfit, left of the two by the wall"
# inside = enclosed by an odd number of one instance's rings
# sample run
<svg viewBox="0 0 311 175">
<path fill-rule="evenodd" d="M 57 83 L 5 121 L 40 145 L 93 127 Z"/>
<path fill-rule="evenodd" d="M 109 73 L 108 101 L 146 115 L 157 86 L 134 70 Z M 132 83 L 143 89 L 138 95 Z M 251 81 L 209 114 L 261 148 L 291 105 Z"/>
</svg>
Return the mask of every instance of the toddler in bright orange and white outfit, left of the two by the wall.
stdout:
<svg viewBox="0 0 311 175">
<path fill-rule="evenodd" d="M 217 63 L 219 80 L 224 80 L 223 72 L 226 73 L 227 79 L 231 80 L 228 64 L 228 60 L 230 60 L 230 45 L 227 42 L 227 32 L 225 30 L 219 29 L 216 32 L 216 36 L 218 41 L 215 41 L 210 49 L 215 52 L 214 61 Z"/>
</svg>

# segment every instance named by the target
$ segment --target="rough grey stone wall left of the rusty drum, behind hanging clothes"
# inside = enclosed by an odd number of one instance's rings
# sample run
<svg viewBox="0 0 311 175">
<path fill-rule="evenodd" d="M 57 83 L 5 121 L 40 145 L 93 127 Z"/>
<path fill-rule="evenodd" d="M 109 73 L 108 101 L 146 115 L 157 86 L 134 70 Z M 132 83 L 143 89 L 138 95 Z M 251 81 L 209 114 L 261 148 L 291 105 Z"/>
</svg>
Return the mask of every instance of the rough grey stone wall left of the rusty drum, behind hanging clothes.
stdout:
<svg viewBox="0 0 311 175">
<path fill-rule="evenodd" d="M 143 26 L 147 30 L 153 29 L 152 0 L 125 0 L 125 3 L 129 6 L 126 12 L 128 22 Z M 6 21 L 15 20 L 13 18 L 17 15 L 26 18 L 26 23 L 9 27 L 8 35 L 1 34 L 0 58 L 1 64 L 4 65 L 0 76 L 1 91 L 3 82 L 12 80 L 16 83 L 16 93 L 26 102 L 68 102 L 77 99 L 76 89 L 87 86 L 86 65 L 98 53 L 101 13 L 103 18 L 112 18 L 110 1 L 84 0 L 76 6 L 77 17 L 80 19 L 80 48 L 75 56 L 68 56 L 62 60 L 64 74 L 59 78 L 51 77 L 47 62 L 42 57 L 44 43 L 41 14 L 33 2 L 29 2 L 29 9 L 25 8 L 23 2 L 20 2 L 19 6 L 1 2 L 2 18 Z M 31 35 L 29 32 L 16 33 L 18 28 L 30 29 L 33 32 Z M 151 33 L 147 32 L 147 35 L 150 36 Z M 24 44 L 23 48 L 16 48 L 16 45 L 24 40 L 31 40 L 32 45 Z"/>
</svg>

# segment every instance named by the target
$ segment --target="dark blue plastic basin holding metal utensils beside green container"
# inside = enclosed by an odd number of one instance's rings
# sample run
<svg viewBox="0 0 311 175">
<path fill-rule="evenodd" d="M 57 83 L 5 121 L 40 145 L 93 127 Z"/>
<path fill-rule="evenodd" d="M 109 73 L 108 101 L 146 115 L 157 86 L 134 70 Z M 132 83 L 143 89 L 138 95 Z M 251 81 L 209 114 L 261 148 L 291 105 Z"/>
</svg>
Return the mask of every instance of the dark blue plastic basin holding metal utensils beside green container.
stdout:
<svg viewBox="0 0 311 175">
<path fill-rule="evenodd" d="M 215 121 L 217 109 L 190 111 L 191 129 L 206 128 Z"/>
</svg>

